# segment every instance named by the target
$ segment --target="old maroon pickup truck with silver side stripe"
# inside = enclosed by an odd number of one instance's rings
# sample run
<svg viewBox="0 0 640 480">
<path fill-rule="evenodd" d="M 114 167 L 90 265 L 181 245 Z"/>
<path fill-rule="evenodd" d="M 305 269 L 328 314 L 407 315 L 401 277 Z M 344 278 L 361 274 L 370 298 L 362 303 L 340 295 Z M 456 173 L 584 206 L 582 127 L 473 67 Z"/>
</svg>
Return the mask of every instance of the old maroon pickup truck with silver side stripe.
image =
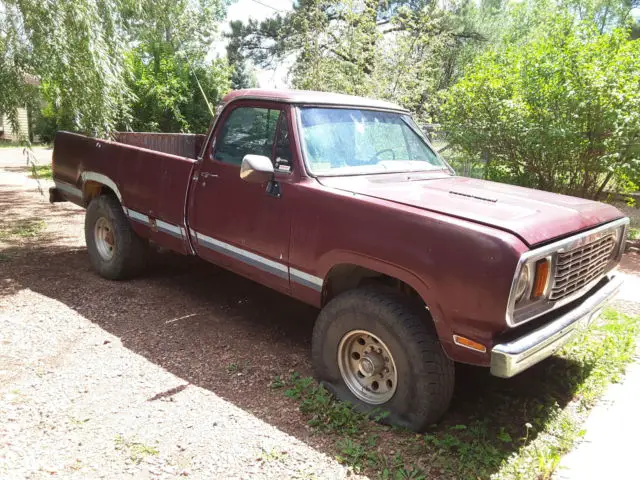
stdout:
<svg viewBox="0 0 640 480">
<path fill-rule="evenodd" d="M 56 135 L 52 202 L 86 207 L 103 277 L 153 245 L 321 309 L 312 359 L 339 398 L 415 430 L 454 362 L 511 377 L 619 289 L 612 206 L 458 177 L 408 112 L 344 95 L 241 90 L 207 135 Z"/>
</svg>

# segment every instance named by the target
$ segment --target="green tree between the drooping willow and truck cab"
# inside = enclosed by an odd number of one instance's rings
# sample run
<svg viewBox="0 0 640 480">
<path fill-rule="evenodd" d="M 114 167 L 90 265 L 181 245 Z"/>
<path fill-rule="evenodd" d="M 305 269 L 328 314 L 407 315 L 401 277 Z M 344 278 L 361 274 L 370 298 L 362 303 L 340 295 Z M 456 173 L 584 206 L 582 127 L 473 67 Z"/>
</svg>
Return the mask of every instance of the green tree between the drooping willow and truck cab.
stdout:
<svg viewBox="0 0 640 480">
<path fill-rule="evenodd" d="M 129 44 L 136 45 L 125 57 L 135 100 L 131 121 L 124 118 L 120 129 L 207 130 L 207 100 L 215 106 L 231 88 L 226 62 L 205 60 L 226 5 L 226 0 L 139 0 L 124 10 Z"/>
</svg>

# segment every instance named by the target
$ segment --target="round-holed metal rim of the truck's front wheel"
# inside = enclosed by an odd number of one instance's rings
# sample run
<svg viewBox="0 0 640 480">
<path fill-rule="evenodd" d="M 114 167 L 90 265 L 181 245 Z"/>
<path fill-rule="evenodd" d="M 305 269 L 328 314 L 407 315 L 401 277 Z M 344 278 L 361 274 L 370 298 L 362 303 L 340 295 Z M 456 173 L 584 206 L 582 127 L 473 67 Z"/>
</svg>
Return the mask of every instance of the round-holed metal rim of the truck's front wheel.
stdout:
<svg viewBox="0 0 640 480">
<path fill-rule="evenodd" d="M 352 330 L 342 337 L 338 367 L 344 383 L 363 402 L 380 405 L 396 393 L 398 372 L 391 350 L 371 332 Z"/>
</svg>

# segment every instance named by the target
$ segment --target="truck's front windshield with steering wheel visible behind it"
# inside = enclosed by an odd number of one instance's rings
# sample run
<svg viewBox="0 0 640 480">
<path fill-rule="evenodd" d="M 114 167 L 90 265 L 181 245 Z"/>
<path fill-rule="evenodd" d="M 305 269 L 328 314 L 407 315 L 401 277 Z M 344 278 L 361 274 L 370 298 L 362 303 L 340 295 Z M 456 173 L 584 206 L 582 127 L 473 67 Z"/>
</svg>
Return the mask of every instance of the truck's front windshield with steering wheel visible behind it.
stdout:
<svg viewBox="0 0 640 480">
<path fill-rule="evenodd" d="M 447 168 L 408 115 L 303 107 L 302 148 L 314 175 L 359 175 Z"/>
</svg>

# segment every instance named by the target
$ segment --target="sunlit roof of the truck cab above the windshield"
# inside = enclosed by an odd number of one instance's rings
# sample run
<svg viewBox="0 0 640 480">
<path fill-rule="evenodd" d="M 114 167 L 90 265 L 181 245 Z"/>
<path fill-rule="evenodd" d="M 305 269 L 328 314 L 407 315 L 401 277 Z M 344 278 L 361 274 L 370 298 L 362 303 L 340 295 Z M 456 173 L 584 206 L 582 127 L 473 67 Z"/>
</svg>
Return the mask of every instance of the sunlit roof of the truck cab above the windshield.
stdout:
<svg viewBox="0 0 640 480">
<path fill-rule="evenodd" d="M 375 110 L 393 110 L 407 112 L 405 108 L 394 103 L 375 100 L 373 98 L 343 95 L 341 93 L 314 92 L 311 90 L 270 90 L 264 88 L 247 88 L 233 90 L 222 99 L 223 104 L 236 100 L 268 100 L 296 105 L 335 105 L 347 107 L 361 107 Z"/>
</svg>

